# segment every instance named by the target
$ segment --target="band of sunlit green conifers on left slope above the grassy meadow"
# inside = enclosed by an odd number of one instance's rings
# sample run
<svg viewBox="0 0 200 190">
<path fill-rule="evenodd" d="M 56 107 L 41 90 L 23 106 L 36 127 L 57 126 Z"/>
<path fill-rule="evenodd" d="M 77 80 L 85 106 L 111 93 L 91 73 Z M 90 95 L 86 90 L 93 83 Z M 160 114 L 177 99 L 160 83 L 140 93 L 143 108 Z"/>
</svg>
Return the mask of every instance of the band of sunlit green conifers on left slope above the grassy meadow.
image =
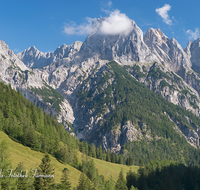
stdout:
<svg viewBox="0 0 200 190">
<path fill-rule="evenodd" d="M 50 116 L 42 108 L 23 97 L 18 90 L 0 83 L 0 130 L 12 140 L 33 150 L 47 152 L 65 164 L 79 168 L 77 151 L 87 156 L 118 164 L 133 165 L 132 158 L 112 154 L 96 148 L 94 144 L 80 142 L 58 123 L 56 116 Z M 62 142 L 62 146 L 60 146 Z M 127 161 L 129 159 L 130 161 Z"/>
</svg>

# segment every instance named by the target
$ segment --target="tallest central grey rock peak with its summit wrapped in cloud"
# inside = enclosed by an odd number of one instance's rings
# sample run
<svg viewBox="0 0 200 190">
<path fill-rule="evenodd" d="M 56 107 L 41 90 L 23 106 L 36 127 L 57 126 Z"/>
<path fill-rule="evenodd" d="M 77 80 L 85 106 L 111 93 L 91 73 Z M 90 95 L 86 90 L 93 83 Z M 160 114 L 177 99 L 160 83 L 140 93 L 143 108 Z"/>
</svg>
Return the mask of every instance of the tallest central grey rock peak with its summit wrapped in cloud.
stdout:
<svg viewBox="0 0 200 190">
<path fill-rule="evenodd" d="M 97 19 L 93 30 L 83 43 L 80 52 L 99 53 L 105 59 L 120 63 L 152 62 L 158 59 L 143 41 L 143 32 L 133 20 L 129 20 L 126 31 L 106 30 L 108 18 Z"/>
</svg>

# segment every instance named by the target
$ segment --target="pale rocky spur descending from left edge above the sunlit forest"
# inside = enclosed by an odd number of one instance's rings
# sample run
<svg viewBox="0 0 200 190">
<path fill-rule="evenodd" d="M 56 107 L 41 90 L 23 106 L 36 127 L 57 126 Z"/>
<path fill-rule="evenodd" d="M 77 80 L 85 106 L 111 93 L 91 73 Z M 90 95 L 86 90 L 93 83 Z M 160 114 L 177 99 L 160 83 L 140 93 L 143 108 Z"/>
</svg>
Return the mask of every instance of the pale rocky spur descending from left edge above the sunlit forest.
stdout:
<svg viewBox="0 0 200 190">
<path fill-rule="evenodd" d="M 62 118 L 65 118 L 65 121 L 73 122 L 73 117 L 70 120 L 66 114 L 66 112 L 71 111 L 71 106 L 67 100 L 47 85 L 35 71 L 26 67 L 2 40 L 0 40 L 0 68 L 1 82 L 20 90 L 24 97 L 43 108 L 46 113 L 57 115 L 59 122 L 62 121 Z M 43 93 L 41 93 L 41 90 Z M 65 126 L 67 127 L 67 125 Z"/>
</svg>

